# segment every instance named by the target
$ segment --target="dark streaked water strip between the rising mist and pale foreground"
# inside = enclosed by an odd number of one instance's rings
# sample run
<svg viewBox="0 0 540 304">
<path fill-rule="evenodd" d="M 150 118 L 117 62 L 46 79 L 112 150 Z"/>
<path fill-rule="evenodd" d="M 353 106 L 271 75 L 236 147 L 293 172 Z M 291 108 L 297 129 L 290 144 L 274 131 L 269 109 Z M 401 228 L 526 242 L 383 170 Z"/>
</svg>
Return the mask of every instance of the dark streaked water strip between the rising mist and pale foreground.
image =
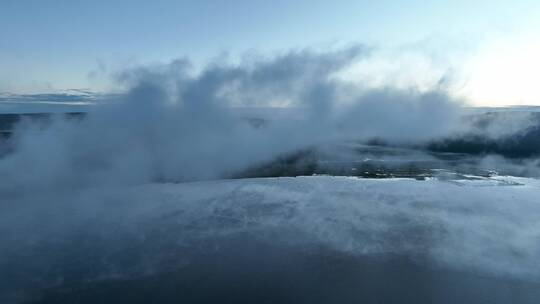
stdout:
<svg viewBox="0 0 540 304">
<path fill-rule="evenodd" d="M 306 149 L 281 156 L 273 161 L 253 166 L 232 175 L 246 177 L 290 177 L 310 175 L 355 176 L 360 178 L 414 178 L 445 179 L 489 178 L 497 175 L 498 168 L 480 165 L 480 158 L 468 154 L 438 153 L 388 146 L 340 145 L 346 157 L 323 152 L 318 148 Z M 505 172 L 501 172 L 505 173 Z"/>
</svg>

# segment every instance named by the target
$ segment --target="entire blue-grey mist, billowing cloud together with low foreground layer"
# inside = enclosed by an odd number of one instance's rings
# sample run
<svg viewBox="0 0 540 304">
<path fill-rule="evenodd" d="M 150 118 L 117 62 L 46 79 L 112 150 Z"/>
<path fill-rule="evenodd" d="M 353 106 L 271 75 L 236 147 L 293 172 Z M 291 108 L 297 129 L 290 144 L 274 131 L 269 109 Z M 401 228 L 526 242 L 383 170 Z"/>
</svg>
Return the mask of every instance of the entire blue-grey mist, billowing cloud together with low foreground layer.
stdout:
<svg viewBox="0 0 540 304">
<path fill-rule="evenodd" d="M 420 147 L 414 158 L 433 160 L 429 147 L 452 147 L 456 138 L 498 141 L 535 127 L 528 115 L 508 119 L 513 128 L 464 120 L 466 101 L 440 87 L 370 88 L 338 77 L 372 52 L 356 45 L 218 58 L 199 70 L 188 59 L 130 67 L 115 75 L 121 93 L 94 101 L 84 116 L 23 119 L 0 157 L 0 267 L 14 278 L 0 282 L 0 299 L 17 303 L 28 290 L 66 281 L 205 265 L 212 254 L 238 259 L 250 242 L 284 256 L 299 250 L 302 259 L 304 246 L 347 257 L 399 255 L 536 282 L 534 233 L 512 239 L 539 212 L 536 192 L 490 192 L 462 181 L 396 179 L 382 189 L 373 180 L 330 177 L 222 180 L 320 147 L 351 157 L 333 150 L 343 143 Z M 536 172 L 534 153 L 514 165 L 490 151 L 478 156 L 488 168 Z M 452 194 L 462 186 L 470 188 Z M 523 204 L 490 207 L 498 197 Z M 513 225 L 523 214 L 525 224 Z"/>
</svg>

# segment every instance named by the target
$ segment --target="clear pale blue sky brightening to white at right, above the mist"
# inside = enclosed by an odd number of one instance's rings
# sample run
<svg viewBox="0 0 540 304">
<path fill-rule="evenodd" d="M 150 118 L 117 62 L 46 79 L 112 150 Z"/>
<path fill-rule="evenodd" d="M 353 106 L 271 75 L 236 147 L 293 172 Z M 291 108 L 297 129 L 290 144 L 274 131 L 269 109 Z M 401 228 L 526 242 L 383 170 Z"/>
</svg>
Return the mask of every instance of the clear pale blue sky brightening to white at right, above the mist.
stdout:
<svg viewBox="0 0 540 304">
<path fill-rule="evenodd" d="M 106 91 L 125 67 L 224 53 L 373 47 L 348 77 L 538 104 L 539 1 L 2 0 L 0 92 Z"/>
</svg>

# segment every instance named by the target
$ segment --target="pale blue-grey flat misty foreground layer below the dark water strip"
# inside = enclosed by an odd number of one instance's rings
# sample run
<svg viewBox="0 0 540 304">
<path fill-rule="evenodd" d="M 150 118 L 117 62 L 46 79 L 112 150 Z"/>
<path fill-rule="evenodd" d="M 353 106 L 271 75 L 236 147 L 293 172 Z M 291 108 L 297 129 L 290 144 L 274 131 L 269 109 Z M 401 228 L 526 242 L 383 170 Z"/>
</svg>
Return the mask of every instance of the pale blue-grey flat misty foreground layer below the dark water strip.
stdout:
<svg viewBox="0 0 540 304">
<path fill-rule="evenodd" d="M 0 205 L 0 268 L 8 278 L 0 299 L 181 271 L 209 251 L 219 255 L 219 240 L 230 238 L 358 258 L 405 256 L 422 267 L 538 287 L 539 198 L 540 180 L 505 176 L 261 178 L 18 197 Z"/>
</svg>

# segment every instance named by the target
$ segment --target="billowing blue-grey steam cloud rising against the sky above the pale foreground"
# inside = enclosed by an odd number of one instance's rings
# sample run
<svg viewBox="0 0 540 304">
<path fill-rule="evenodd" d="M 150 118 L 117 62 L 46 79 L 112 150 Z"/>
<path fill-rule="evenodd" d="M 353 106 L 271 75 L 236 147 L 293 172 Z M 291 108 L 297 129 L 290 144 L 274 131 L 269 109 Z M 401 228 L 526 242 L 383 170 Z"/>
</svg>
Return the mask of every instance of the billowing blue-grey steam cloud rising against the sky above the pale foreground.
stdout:
<svg viewBox="0 0 540 304">
<path fill-rule="evenodd" d="M 0 159 L 0 193 L 226 177 L 322 142 L 410 142 L 453 128 L 459 103 L 444 92 L 366 90 L 334 77 L 368 56 L 354 46 L 215 62 L 198 73 L 187 60 L 123 71 L 127 92 L 86 118 L 19 125 L 14 153 Z M 265 127 L 239 117 L 253 107 L 267 109 Z M 274 121 L 275 107 L 299 115 Z"/>
</svg>

